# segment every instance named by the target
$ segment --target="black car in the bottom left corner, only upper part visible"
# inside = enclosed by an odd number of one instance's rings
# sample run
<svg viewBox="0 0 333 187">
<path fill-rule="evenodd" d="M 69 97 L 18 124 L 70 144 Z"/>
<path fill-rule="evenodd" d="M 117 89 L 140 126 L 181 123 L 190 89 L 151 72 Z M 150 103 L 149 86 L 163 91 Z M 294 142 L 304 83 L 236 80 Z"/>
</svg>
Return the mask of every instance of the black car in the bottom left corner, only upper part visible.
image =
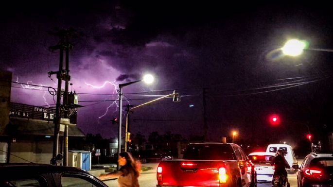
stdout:
<svg viewBox="0 0 333 187">
<path fill-rule="evenodd" d="M 107 187 L 85 170 L 29 163 L 0 163 L 0 187 Z"/>
</svg>

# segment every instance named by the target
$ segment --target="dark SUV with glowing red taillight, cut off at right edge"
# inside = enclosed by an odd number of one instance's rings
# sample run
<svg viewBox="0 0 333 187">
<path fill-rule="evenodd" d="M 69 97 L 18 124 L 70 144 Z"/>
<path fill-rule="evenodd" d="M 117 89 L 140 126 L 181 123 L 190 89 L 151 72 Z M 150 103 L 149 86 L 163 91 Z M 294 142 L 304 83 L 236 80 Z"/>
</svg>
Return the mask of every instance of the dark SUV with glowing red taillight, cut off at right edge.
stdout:
<svg viewBox="0 0 333 187">
<path fill-rule="evenodd" d="M 297 173 L 298 187 L 332 187 L 333 184 L 333 154 L 310 153 Z"/>
</svg>

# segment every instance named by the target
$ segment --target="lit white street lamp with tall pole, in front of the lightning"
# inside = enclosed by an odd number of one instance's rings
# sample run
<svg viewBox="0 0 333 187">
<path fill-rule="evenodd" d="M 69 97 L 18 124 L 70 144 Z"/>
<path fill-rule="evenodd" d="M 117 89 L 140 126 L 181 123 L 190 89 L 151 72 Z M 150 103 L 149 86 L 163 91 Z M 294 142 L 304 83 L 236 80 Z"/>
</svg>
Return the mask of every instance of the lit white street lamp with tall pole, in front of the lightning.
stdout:
<svg viewBox="0 0 333 187">
<path fill-rule="evenodd" d="M 138 81 L 133 81 L 133 82 L 129 82 L 129 83 L 124 83 L 124 84 L 120 84 L 119 85 L 119 130 L 118 130 L 118 157 L 119 157 L 119 153 L 122 150 L 122 106 L 123 106 L 123 100 L 122 100 L 122 88 L 127 86 L 127 85 L 132 85 L 134 83 L 139 83 L 139 82 L 145 82 L 146 84 L 151 84 L 154 82 L 154 77 L 151 74 L 146 74 L 143 76 L 142 80 L 138 80 Z M 119 169 L 119 165 L 118 165 L 118 169 Z"/>
</svg>

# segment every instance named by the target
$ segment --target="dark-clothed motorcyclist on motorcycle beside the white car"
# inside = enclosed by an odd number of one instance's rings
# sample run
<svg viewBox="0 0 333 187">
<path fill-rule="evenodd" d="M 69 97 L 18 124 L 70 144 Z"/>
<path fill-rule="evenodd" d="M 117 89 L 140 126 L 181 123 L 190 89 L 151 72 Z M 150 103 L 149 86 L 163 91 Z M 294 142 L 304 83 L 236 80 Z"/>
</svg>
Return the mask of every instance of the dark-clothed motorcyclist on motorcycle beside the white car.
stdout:
<svg viewBox="0 0 333 187">
<path fill-rule="evenodd" d="M 283 150 L 279 149 L 276 153 L 277 155 L 273 158 L 271 165 L 274 166 L 274 175 L 282 174 L 284 176 L 283 185 L 285 186 L 286 182 L 288 181 L 288 174 L 285 168 L 290 169 L 290 166 L 283 156 Z"/>
</svg>

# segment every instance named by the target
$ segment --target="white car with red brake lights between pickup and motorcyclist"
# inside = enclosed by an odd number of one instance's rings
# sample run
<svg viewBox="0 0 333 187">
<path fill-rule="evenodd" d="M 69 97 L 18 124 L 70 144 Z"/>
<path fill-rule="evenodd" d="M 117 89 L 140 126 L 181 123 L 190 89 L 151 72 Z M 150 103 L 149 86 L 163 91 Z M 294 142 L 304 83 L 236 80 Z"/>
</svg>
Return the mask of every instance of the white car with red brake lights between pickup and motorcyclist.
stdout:
<svg viewBox="0 0 333 187">
<path fill-rule="evenodd" d="M 249 153 L 247 157 L 255 166 L 255 170 L 257 172 L 257 181 L 271 183 L 274 173 L 271 162 L 275 157 L 275 153 L 254 152 Z"/>
</svg>

